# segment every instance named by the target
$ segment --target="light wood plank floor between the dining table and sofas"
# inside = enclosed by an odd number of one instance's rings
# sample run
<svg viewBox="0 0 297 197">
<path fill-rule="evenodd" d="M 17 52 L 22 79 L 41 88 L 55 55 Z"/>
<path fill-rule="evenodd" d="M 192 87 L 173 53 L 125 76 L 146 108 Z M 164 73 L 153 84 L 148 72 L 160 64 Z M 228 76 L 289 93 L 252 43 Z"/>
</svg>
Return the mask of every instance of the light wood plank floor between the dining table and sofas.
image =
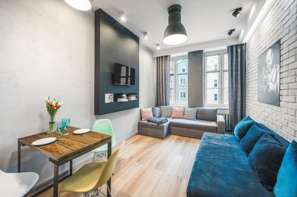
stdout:
<svg viewBox="0 0 297 197">
<path fill-rule="evenodd" d="M 199 139 L 168 135 L 164 140 L 136 135 L 119 152 L 111 177 L 113 197 L 185 197 Z M 61 182 L 59 186 L 62 184 Z M 106 186 L 101 191 L 106 194 Z M 39 197 L 53 196 L 53 189 Z M 75 193 L 59 190 L 59 197 Z M 83 197 L 79 193 L 77 197 Z"/>
</svg>

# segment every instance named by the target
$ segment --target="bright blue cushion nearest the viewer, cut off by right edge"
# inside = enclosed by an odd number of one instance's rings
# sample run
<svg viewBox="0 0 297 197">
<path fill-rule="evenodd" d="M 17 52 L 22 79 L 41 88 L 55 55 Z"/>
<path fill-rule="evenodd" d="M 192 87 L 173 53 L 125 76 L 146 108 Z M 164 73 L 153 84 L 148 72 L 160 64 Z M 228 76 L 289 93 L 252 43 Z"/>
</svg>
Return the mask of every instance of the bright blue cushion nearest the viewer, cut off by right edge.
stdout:
<svg viewBox="0 0 297 197">
<path fill-rule="evenodd" d="M 296 197 L 297 196 L 297 143 L 289 145 L 279 173 L 277 174 L 277 183 L 273 192 L 276 197 Z"/>
</svg>

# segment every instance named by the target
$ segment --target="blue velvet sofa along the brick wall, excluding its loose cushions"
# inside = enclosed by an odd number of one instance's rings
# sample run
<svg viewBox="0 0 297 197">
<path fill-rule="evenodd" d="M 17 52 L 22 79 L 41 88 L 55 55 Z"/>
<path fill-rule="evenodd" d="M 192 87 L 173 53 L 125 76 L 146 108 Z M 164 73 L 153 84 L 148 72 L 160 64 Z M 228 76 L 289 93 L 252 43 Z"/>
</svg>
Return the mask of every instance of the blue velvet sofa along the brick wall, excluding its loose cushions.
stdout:
<svg viewBox="0 0 297 197">
<path fill-rule="evenodd" d="M 257 125 L 288 148 L 290 142 Z M 204 133 L 187 187 L 187 197 L 274 197 L 260 183 L 234 135 Z"/>
</svg>

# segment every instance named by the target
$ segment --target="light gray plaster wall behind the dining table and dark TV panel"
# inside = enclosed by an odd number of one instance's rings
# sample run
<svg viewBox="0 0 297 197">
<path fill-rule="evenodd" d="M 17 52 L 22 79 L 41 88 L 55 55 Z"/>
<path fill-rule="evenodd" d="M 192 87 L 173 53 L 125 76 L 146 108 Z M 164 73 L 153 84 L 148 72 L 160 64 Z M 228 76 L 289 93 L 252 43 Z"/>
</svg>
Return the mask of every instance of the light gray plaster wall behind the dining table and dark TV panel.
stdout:
<svg viewBox="0 0 297 197">
<path fill-rule="evenodd" d="M 0 1 L 0 169 L 17 172 L 17 139 L 45 132 L 49 116 L 44 98 L 64 102 L 56 120 L 92 128 L 109 118 L 116 142 L 138 132 L 140 110 L 94 115 L 94 11 L 82 12 L 62 0 Z M 154 105 L 153 52 L 140 44 L 140 107 Z M 152 80 L 151 80 L 152 79 Z M 78 165 L 91 158 L 74 159 Z M 69 168 L 62 165 L 60 171 Z M 21 172 L 53 177 L 48 157 L 21 148 Z"/>
</svg>

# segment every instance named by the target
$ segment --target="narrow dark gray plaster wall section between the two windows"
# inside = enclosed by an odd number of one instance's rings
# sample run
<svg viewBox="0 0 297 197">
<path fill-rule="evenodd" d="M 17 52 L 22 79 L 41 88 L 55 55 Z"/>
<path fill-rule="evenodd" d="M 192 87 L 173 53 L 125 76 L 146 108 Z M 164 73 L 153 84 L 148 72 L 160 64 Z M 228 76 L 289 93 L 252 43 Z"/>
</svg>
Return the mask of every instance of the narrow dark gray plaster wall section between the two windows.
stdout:
<svg viewBox="0 0 297 197">
<path fill-rule="evenodd" d="M 203 50 L 188 52 L 188 107 L 203 107 Z"/>
</svg>

